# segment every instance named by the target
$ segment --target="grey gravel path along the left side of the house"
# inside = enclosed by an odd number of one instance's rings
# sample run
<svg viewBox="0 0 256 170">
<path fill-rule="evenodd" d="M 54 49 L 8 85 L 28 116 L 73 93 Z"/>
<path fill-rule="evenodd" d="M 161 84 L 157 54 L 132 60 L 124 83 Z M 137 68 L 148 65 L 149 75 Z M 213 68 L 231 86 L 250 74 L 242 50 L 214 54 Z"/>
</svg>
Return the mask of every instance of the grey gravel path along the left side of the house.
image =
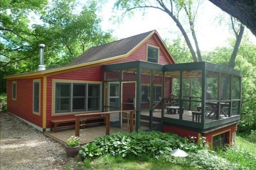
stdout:
<svg viewBox="0 0 256 170">
<path fill-rule="evenodd" d="M 1 170 L 63 170 L 67 162 L 64 145 L 9 113 L 0 113 Z"/>
</svg>

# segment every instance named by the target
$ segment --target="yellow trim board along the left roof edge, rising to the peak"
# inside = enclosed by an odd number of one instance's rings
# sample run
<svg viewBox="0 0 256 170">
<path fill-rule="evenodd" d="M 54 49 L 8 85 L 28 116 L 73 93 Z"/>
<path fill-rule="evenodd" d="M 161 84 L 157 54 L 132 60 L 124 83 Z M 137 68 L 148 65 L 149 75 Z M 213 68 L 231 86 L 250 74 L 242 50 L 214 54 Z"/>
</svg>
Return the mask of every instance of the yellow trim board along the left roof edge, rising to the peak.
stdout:
<svg viewBox="0 0 256 170">
<path fill-rule="evenodd" d="M 15 78 L 20 79 L 22 77 L 29 77 L 30 78 L 30 77 L 39 76 L 39 75 L 49 76 L 49 75 L 54 75 L 54 74 L 60 74 L 62 71 L 63 72 L 73 71 L 73 70 L 76 70 L 76 69 L 81 69 L 85 66 L 90 66 L 91 67 L 93 65 L 94 66 L 95 65 L 102 65 L 102 64 L 107 63 L 107 62 L 113 62 L 113 61 L 116 61 L 116 60 L 125 59 L 130 54 L 132 54 L 137 48 L 139 48 L 140 45 L 142 45 L 146 40 L 148 40 L 154 33 L 155 33 L 155 31 L 152 31 L 151 34 L 149 34 L 147 37 L 145 37 L 144 40 L 142 40 L 133 49 L 131 49 L 127 54 L 124 54 L 124 55 L 111 57 L 111 58 L 107 58 L 107 59 L 100 59 L 100 60 L 81 63 L 81 64 L 76 64 L 76 65 L 64 66 L 64 67 L 61 67 L 61 68 L 53 68 L 53 69 L 45 70 L 45 71 L 37 71 L 37 72 L 26 73 L 26 74 L 17 74 L 17 75 L 12 75 L 12 76 L 6 76 L 6 77 L 4 77 L 4 79 L 15 79 Z"/>
</svg>

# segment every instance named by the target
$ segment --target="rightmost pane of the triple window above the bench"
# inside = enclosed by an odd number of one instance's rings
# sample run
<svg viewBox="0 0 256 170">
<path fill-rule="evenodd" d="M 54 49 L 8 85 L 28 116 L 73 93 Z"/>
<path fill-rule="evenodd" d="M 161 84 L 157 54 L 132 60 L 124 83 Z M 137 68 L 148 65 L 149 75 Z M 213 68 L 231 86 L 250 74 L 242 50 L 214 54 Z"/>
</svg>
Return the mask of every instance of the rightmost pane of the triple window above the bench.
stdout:
<svg viewBox="0 0 256 170">
<path fill-rule="evenodd" d="M 88 84 L 88 111 L 99 110 L 100 85 Z"/>
</svg>

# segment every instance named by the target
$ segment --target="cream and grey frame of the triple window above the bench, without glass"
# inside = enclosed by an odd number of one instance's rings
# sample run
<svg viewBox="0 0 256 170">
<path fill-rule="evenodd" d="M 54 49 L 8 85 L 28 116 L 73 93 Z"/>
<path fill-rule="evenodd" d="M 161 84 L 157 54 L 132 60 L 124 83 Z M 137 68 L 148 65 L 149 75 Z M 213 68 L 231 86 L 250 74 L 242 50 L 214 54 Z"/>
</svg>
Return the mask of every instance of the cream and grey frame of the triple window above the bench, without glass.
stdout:
<svg viewBox="0 0 256 170">
<path fill-rule="evenodd" d="M 71 84 L 71 101 L 70 101 L 70 112 L 55 113 L 55 91 L 57 83 L 70 83 Z M 85 111 L 73 111 L 73 84 L 85 84 L 86 85 L 86 103 Z M 99 110 L 88 111 L 88 85 L 99 85 Z M 102 82 L 90 82 L 90 81 L 65 81 L 65 80 L 52 80 L 52 116 L 67 115 L 67 114 L 78 114 L 78 113 L 90 113 L 90 112 L 101 112 L 102 111 Z"/>
</svg>

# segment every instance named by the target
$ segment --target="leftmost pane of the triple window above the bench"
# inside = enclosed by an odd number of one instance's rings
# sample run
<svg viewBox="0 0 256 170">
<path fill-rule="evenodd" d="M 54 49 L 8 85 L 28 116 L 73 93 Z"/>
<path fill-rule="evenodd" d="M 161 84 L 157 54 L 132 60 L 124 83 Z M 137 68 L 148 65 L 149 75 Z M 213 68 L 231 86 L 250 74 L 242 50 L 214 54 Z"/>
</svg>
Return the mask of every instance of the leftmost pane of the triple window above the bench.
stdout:
<svg viewBox="0 0 256 170">
<path fill-rule="evenodd" d="M 56 83 L 55 113 L 71 112 L 71 83 Z"/>
</svg>

